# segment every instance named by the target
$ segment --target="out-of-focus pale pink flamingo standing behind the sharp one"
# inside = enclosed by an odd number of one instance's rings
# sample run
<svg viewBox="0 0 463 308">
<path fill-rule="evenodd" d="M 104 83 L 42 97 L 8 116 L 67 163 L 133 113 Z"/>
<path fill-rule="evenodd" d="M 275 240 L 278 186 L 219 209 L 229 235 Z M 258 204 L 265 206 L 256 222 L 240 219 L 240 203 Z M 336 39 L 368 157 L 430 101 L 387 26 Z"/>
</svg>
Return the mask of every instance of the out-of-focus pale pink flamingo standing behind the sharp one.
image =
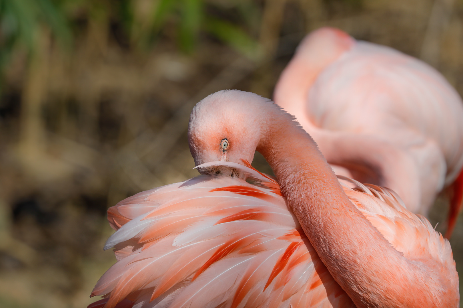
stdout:
<svg viewBox="0 0 463 308">
<path fill-rule="evenodd" d="M 313 31 L 275 86 L 337 174 L 391 188 L 427 216 L 450 186 L 450 238 L 463 193 L 463 103 L 431 66 L 334 28 Z"/>
</svg>

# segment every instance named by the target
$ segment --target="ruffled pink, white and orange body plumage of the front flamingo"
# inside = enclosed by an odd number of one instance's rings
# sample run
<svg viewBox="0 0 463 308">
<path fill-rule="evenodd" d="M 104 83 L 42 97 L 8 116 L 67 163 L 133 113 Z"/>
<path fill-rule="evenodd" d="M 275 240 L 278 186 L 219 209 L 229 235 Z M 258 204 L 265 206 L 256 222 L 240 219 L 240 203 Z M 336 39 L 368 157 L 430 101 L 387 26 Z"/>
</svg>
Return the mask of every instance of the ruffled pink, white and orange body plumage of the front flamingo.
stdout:
<svg viewBox="0 0 463 308">
<path fill-rule="evenodd" d="M 210 163 L 237 168 L 233 163 Z M 249 166 L 250 167 L 250 166 Z M 89 307 L 355 307 L 300 229 L 270 176 L 200 175 L 127 198 L 108 210 L 118 262 Z M 450 260 L 447 241 L 392 192 L 344 180 L 344 192 L 396 249 Z M 409 234 L 415 236 L 410 237 Z M 426 251 L 429 243 L 433 248 Z M 445 261 L 444 261 L 445 262 Z M 451 264 L 449 264 L 451 266 Z"/>
</svg>

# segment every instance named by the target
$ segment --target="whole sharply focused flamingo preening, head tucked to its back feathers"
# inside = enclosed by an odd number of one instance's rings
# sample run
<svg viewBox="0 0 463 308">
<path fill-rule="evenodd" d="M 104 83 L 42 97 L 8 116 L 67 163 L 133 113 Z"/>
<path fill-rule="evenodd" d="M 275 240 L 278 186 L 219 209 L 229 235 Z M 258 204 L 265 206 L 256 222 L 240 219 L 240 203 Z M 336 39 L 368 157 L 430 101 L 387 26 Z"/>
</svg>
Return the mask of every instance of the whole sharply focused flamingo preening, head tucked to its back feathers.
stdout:
<svg viewBox="0 0 463 308">
<path fill-rule="evenodd" d="M 211 94 L 188 140 L 202 175 L 108 210 L 118 261 L 89 308 L 459 307 L 450 243 L 393 191 L 338 181 L 275 103 Z"/>
</svg>

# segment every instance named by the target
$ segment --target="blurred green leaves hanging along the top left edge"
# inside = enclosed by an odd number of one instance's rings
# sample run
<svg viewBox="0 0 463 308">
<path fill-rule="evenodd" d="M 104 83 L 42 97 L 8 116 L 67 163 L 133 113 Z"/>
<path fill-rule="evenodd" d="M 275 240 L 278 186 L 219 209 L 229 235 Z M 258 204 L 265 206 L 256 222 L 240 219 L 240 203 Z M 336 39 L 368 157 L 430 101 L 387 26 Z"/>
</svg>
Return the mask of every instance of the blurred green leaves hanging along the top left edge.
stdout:
<svg viewBox="0 0 463 308">
<path fill-rule="evenodd" d="M 232 18 L 214 18 L 210 11 Z M 251 0 L 1 0 L 0 61 L 5 63 L 18 44 L 32 51 L 37 32 L 43 27 L 69 47 L 75 34 L 70 25 L 82 18 L 75 18 L 82 12 L 87 13 L 84 18 L 109 17 L 110 23 L 118 23 L 131 47 L 150 48 L 169 25 L 169 30 L 176 32 L 179 48 L 188 54 L 194 52 L 202 32 L 249 56 L 257 48 L 250 32 L 256 33 L 252 28 L 259 24 L 260 9 Z M 104 16 L 108 13 L 110 16 Z"/>
</svg>

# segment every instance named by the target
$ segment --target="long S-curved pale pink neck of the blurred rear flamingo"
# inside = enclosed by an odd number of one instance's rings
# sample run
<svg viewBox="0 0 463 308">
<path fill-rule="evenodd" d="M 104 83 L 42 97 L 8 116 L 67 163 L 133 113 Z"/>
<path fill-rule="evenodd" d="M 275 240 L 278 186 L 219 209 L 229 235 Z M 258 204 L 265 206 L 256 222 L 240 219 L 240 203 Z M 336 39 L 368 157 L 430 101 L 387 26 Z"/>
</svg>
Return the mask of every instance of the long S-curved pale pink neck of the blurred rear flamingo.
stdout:
<svg viewBox="0 0 463 308">
<path fill-rule="evenodd" d="M 301 42 L 275 86 L 274 100 L 317 141 L 330 164 L 349 170 L 351 177 L 393 189 L 407 209 L 422 207 L 419 172 L 412 157 L 387 141 L 364 134 L 335 132 L 311 121 L 309 91 L 319 74 L 336 62 L 356 42 L 337 29 L 321 28 Z M 433 199 L 429 197 L 427 199 Z"/>
</svg>

